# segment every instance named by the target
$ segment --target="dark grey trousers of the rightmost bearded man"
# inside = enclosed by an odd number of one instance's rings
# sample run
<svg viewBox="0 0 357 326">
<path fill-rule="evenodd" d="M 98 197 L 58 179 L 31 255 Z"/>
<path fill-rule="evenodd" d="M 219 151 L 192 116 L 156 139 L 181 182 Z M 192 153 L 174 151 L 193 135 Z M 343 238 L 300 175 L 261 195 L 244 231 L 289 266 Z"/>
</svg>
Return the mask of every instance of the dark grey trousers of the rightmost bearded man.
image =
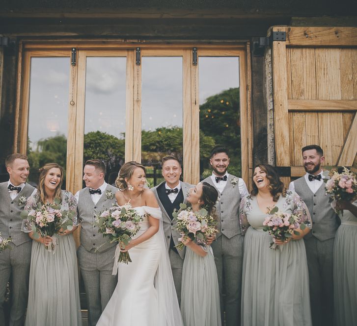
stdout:
<svg viewBox="0 0 357 326">
<path fill-rule="evenodd" d="M 310 305 L 313 326 L 333 326 L 334 238 L 304 239 L 309 270 Z"/>
</svg>

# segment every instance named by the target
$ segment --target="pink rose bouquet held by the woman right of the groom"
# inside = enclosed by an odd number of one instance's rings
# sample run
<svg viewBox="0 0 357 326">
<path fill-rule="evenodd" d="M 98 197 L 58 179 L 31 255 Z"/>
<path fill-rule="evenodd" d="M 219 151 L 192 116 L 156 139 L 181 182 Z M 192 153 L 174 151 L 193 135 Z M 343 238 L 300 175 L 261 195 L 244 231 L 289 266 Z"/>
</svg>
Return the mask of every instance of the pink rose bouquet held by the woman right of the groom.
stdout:
<svg viewBox="0 0 357 326">
<path fill-rule="evenodd" d="M 191 207 L 180 204 L 180 210 L 172 213 L 174 220 L 177 221 L 176 229 L 182 237 L 196 239 L 198 242 L 206 242 L 208 236 L 218 232 L 217 221 L 213 216 L 208 215 L 207 210 L 201 208 L 198 212 L 193 212 Z M 176 246 L 182 250 L 185 245 L 180 243 Z"/>
</svg>

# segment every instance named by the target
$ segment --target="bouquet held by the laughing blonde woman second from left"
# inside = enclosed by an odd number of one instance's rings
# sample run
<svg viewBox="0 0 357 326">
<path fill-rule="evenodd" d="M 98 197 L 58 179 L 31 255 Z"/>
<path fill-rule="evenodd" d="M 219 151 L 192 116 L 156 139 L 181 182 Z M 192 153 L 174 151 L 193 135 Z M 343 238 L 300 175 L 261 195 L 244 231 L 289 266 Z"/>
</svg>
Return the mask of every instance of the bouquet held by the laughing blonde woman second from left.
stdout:
<svg viewBox="0 0 357 326">
<path fill-rule="evenodd" d="M 49 236 L 52 243 L 45 246 L 48 251 L 55 253 L 56 236 L 63 232 L 64 229 L 72 230 L 74 211 L 61 210 L 60 200 L 55 199 L 53 204 L 43 204 L 39 202 L 32 209 L 23 210 L 21 217 L 27 219 L 25 230 L 31 230 L 33 237 L 38 239 L 40 236 Z"/>
</svg>

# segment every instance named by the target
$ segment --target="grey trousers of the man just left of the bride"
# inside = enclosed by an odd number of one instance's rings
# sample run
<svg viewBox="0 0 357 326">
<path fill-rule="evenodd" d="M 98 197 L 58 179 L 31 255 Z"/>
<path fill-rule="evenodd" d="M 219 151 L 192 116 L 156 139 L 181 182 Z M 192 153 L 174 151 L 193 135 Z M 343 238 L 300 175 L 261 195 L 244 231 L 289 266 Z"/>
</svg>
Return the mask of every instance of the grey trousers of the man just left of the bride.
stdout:
<svg viewBox="0 0 357 326">
<path fill-rule="evenodd" d="M 97 324 L 118 281 L 116 275 L 111 275 L 114 253 L 115 247 L 103 252 L 86 251 L 82 245 L 78 248 L 77 256 L 88 305 L 88 326 Z"/>
</svg>

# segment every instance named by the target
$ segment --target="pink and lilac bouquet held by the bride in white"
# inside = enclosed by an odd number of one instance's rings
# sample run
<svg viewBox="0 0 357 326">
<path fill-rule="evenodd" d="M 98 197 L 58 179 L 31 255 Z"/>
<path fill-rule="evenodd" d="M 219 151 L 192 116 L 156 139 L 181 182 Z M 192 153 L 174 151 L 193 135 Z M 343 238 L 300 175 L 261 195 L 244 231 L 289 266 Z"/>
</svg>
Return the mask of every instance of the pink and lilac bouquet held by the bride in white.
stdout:
<svg viewBox="0 0 357 326">
<path fill-rule="evenodd" d="M 142 221 L 142 216 L 137 214 L 129 202 L 123 206 L 114 203 L 110 209 L 99 213 L 95 219 L 103 237 L 108 237 L 110 243 L 118 242 L 121 248 L 127 246 L 130 239 L 137 234 Z M 129 252 L 120 251 L 118 262 L 132 262 Z"/>
</svg>

